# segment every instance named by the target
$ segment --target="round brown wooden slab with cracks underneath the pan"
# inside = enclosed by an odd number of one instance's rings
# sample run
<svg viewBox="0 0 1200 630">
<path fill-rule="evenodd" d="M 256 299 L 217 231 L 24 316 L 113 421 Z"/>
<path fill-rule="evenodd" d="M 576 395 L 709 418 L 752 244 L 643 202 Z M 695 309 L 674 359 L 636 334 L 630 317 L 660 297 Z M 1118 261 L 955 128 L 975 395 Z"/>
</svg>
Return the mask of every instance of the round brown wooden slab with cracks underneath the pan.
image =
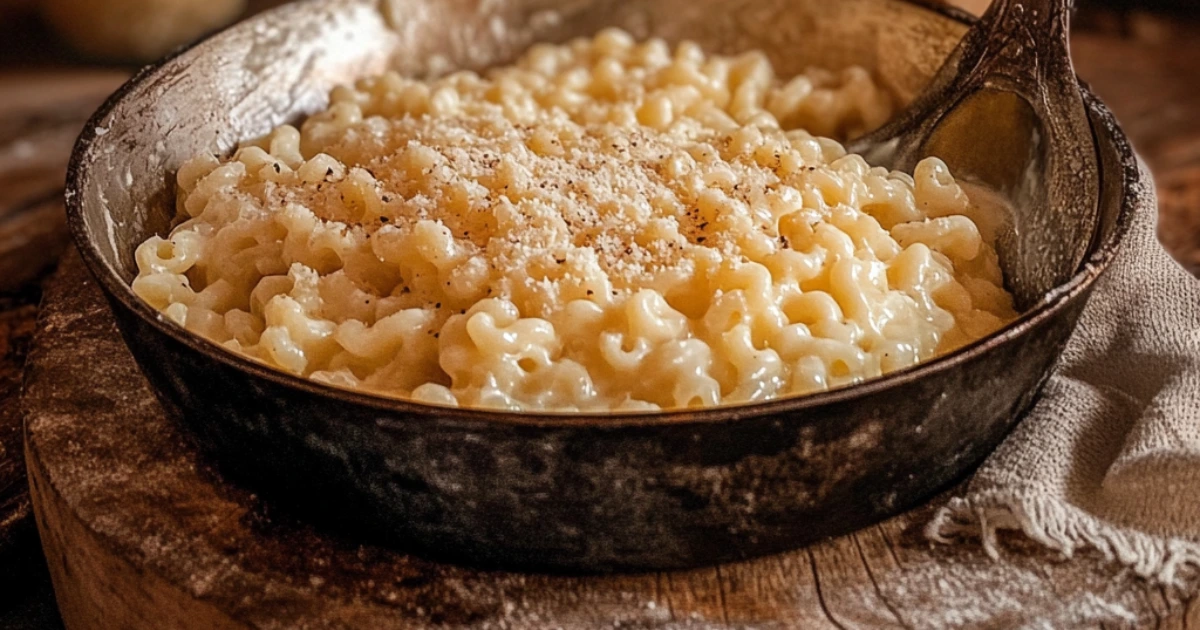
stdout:
<svg viewBox="0 0 1200 630">
<path fill-rule="evenodd" d="M 66 626 L 1140 626 L 1200 607 L 1096 558 L 931 546 L 928 510 L 808 550 L 686 572 L 518 575 L 322 533 L 223 481 L 164 418 L 71 256 L 30 354 L 26 462 Z M 496 515 L 503 518 L 505 515 Z"/>
</svg>

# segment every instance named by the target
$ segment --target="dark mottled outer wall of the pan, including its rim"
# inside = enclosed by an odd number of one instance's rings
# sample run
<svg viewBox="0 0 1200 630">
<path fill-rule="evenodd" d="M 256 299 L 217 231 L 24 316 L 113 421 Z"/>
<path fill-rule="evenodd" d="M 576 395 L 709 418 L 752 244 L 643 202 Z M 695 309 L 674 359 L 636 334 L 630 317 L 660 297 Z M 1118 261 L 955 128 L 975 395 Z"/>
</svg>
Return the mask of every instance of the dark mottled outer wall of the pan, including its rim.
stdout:
<svg viewBox="0 0 1200 630">
<path fill-rule="evenodd" d="M 962 19 L 959 14 L 949 14 Z M 517 415 L 391 401 L 289 377 L 192 337 L 128 289 L 86 221 L 94 127 L 68 218 L 167 410 L 224 473 L 365 540 L 474 565 L 656 570 L 744 559 L 908 509 L 1018 422 L 1136 203 L 1136 158 L 1088 95 L 1100 229 L 1079 272 L 1015 324 L 948 356 L 804 398 L 665 414 Z M 90 204 L 90 205 L 89 205 Z M 302 552 L 302 550 L 298 550 Z"/>
</svg>

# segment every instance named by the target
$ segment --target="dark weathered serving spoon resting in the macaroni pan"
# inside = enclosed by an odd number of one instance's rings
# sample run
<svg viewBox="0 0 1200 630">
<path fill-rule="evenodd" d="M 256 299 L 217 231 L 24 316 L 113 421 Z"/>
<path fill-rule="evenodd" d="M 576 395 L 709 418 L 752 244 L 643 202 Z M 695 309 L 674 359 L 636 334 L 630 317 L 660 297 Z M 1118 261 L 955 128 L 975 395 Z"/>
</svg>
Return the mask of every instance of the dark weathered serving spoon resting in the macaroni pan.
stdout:
<svg viewBox="0 0 1200 630">
<path fill-rule="evenodd" d="M 924 92 L 848 146 L 910 173 L 936 156 L 1001 192 L 1014 216 L 997 248 L 1019 306 L 1078 269 L 1097 226 L 1099 163 L 1070 62 L 1070 0 L 996 0 Z"/>
</svg>

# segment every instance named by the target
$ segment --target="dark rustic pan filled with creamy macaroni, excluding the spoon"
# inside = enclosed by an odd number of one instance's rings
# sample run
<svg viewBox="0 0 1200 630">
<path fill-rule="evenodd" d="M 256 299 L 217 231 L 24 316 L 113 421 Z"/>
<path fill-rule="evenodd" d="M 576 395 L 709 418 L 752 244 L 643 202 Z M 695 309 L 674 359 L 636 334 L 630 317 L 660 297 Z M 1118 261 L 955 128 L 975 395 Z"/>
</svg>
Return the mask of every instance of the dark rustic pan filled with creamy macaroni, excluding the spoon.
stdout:
<svg viewBox="0 0 1200 630">
<path fill-rule="evenodd" d="M 847 152 L 968 20 L 301 2 L 119 91 L 70 222 L 163 407 L 272 500 L 482 565 L 770 553 L 995 448 L 1141 190 L 1090 95 L 1099 228 L 1061 230 L 1082 260 L 1022 247 L 1054 217 L 936 155 Z"/>
</svg>

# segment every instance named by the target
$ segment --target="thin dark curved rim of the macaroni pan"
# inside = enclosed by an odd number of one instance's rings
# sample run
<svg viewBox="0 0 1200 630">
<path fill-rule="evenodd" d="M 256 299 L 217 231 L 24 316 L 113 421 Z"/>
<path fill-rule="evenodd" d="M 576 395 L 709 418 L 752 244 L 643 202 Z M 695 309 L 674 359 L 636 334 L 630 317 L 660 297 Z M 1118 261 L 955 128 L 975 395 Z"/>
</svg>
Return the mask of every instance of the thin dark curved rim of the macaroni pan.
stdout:
<svg viewBox="0 0 1200 630">
<path fill-rule="evenodd" d="M 80 253 L 85 266 L 92 278 L 108 295 L 110 302 L 120 302 L 133 316 L 150 325 L 156 332 L 166 335 L 176 343 L 181 343 L 191 350 L 198 352 L 211 360 L 224 364 L 226 367 L 240 371 L 251 377 L 263 378 L 284 389 L 300 390 L 308 396 L 332 398 L 348 404 L 359 406 L 371 412 L 379 413 L 377 424 L 386 425 L 391 418 L 402 415 L 406 421 L 437 420 L 460 421 L 474 425 L 508 425 L 508 426 L 536 426 L 547 428 L 566 427 L 593 427 L 600 430 L 617 430 L 620 427 L 655 427 L 677 425 L 707 425 L 726 421 L 736 421 L 746 418 L 779 416 L 781 414 L 794 414 L 809 409 L 827 407 L 847 402 L 854 398 L 870 396 L 893 388 L 902 386 L 923 378 L 934 377 L 936 373 L 953 370 L 971 361 L 997 346 L 1003 346 L 1037 328 L 1046 319 L 1054 317 L 1064 308 L 1080 293 L 1087 290 L 1097 278 L 1108 269 L 1114 257 L 1124 241 L 1129 229 L 1133 214 L 1133 200 L 1136 196 L 1135 184 L 1142 179 L 1138 169 L 1136 156 L 1129 145 L 1124 132 L 1116 122 L 1108 107 L 1092 94 L 1084 82 L 1080 89 L 1084 92 L 1084 102 L 1087 108 L 1088 119 L 1093 131 L 1093 148 L 1097 148 L 1096 126 L 1103 124 L 1111 134 L 1110 142 L 1115 144 L 1118 163 L 1114 170 L 1122 178 L 1121 208 L 1116 214 L 1115 224 L 1103 240 L 1099 232 L 1093 235 L 1088 247 L 1087 257 L 1080 263 L 1078 271 L 1066 282 L 1050 289 L 1037 302 L 1024 310 L 1020 316 L 1006 324 L 1000 330 L 958 348 L 950 353 L 922 361 L 910 367 L 890 372 L 880 377 L 868 379 L 863 383 L 836 388 L 832 390 L 805 394 L 799 396 L 774 398 L 761 402 L 743 402 L 734 404 L 721 404 L 716 407 L 666 409 L 655 412 L 511 412 L 505 409 L 487 409 L 475 407 L 446 407 L 439 404 L 422 403 L 406 398 L 394 398 L 385 395 L 371 394 L 367 391 L 350 390 L 336 385 L 299 377 L 282 370 L 270 367 L 254 361 L 247 356 L 234 353 L 224 347 L 214 343 L 196 334 L 188 332 L 182 326 L 168 320 L 163 314 L 140 298 L 132 287 L 125 282 L 115 268 L 106 260 L 96 244 L 88 233 L 84 220 L 82 191 L 90 180 L 91 166 L 89 157 L 94 143 L 102 136 L 97 128 L 103 127 L 103 121 L 139 86 L 154 78 L 166 67 L 179 60 L 184 55 L 193 52 L 203 52 L 212 46 L 214 41 L 232 31 L 248 31 L 253 29 L 257 19 L 264 14 L 283 14 L 290 11 L 302 10 L 306 5 L 316 5 L 319 0 L 308 0 L 283 5 L 260 13 L 241 22 L 229 29 L 214 34 L 191 46 L 181 47 L 167 56 L 144 66 L 113 92 L 104 103 L 91 115 L 83 127 L 71 152 L 71 160 L 66 170 L 66 186 L 64 191 L 67 224 L 73 238 L 76 248 Z M 964 10 L 944 5 L 937 0 L 900 0 L 914 5 L 926 11 L 940 14 L 966 26 L 974 24 L 977 17 Z M 1104 170 L 1100 170 L 1102 186 L 1104 182 Z M 1102 197 L 1103 199 L 1103 197 Z M 1097 208 L 1097 212 L 1100 209 Z M 1097 228 L 1099 229 L 1099 228 Z"/>
</svg>

